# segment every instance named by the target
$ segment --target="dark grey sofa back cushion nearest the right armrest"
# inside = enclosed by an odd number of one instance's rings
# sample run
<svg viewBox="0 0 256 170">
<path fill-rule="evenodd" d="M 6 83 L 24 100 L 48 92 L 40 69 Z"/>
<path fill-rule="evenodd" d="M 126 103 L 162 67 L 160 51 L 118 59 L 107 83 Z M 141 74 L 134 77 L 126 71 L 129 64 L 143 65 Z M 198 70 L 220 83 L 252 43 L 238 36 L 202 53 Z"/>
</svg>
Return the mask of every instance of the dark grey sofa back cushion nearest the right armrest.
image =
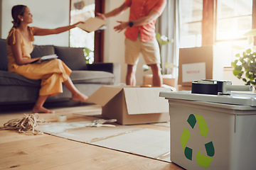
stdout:
<svg viewBox="0 0 256 170">
<path fill-rule="evenodd" d="M 86 61 L 82 47 L 58 47 L 55 46 L 55 54 L 72 70 L 85 70 Z"/>
</svg>

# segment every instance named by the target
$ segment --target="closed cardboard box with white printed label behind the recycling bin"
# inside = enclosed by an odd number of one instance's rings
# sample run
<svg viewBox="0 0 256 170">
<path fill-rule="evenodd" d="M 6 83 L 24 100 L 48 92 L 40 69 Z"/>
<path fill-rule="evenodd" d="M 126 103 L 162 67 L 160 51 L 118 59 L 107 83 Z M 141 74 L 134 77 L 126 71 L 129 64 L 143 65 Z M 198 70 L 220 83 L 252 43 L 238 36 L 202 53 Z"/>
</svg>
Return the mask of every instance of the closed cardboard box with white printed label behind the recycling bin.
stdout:
<svg viewBox="0 0 256 170">
<path fill-rule="evenodd" d="M 178 85 L 191 86 L 198 79 L 223 79 L 223 47 L 214 45 L 181 48 Z"/>
</svg>

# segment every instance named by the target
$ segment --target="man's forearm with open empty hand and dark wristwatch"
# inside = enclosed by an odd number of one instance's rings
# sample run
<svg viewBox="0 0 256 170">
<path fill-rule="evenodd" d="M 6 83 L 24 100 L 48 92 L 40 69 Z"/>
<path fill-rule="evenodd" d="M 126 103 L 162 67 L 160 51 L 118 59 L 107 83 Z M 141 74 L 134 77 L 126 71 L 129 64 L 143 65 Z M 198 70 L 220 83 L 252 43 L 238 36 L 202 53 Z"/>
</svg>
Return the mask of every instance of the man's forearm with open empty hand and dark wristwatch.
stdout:
<svg viewBox="0 0 256 170">
<path fill-rule="evenodd" d="M 133 26 L 144 26 L 156 20 L 157 18 L 159 18 L 159 13 L 157 13 L 154 10 L 151 10 L 147 16 L 144 16 L 132 22 L 134 23 Z M 114 30 L 118 31 L 118 33 L 129 26 L 129 21 L 117 21 L 117 22 L 120 24 L 118 26 L 115 26 Z"/>
</svg>

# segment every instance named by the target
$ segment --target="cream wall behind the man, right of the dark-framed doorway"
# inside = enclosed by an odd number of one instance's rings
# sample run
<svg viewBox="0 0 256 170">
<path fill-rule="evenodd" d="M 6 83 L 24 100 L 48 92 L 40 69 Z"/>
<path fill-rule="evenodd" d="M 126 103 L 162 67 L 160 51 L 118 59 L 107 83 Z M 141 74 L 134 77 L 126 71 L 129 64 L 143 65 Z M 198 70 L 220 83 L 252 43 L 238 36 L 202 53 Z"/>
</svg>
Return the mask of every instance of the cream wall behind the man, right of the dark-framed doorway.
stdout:
<svg viewBox="0 0 256 170">
<path fill-rule="evenodd" d="M 112 11 L 122 5 L 124 1 L 120 0 L 107 0 L 105 4 L 105 12 Z M 107 18 L 107 30 L 105 30 L 104 42 L 104 58 L 105 62 L 119 62 L 121 64 L 121 82 L 125 83 L 125 76 L 127 72 L 127 64 L 124 64 L 124 30 L 121 33 L 114 31 L 114 26 L 117 26 L 117 21 L 128 21 L 129 9 L 119 16 Z M 150 74 L 150 72 L 143 72 L 142 65 L 144 60 L 140 56 L 139 64 L 137 67 L 137 86 L 143 84 L 143 75 Z"/>
</svg>

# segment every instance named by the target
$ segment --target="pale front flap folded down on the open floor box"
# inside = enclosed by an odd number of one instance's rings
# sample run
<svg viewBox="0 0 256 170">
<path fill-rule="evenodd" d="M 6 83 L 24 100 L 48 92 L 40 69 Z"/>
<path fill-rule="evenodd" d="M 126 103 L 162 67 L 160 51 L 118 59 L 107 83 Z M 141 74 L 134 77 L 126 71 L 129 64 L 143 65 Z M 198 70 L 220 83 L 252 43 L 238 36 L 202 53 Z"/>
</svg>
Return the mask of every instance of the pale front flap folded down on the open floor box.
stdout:
<svg viewBox="0 0 256 170">
<path fill-rule="evenodd" d="M 159 97 L 165 88 L 124 88 L 124 96 L 129 115 L 169 112 L 168 102 Z"/>
</svg>

